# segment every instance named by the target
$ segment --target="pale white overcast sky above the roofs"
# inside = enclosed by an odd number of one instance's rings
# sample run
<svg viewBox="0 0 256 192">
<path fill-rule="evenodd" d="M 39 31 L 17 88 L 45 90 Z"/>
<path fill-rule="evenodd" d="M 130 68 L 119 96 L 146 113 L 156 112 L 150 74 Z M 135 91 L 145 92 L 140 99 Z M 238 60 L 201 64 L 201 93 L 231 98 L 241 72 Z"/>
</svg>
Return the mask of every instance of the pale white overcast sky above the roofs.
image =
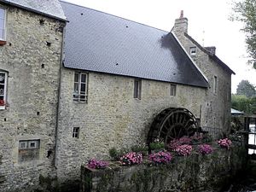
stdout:
<svg viewBox="0 0 256 192">
<path fill-rule="evenodd" d="M 216 46 L 216 55 L 235 73 L 232 93 L 242 79 L 256 85 L 256 70 L 247 66 L 242 24 L 230 21 L 232 0 L 65 0 L 87 8 L 171 31 L 174 20 L 184 11 L 189 35 L 203 46 Z M 68 18 L 67 18 L 68 19 Z"/>
</svg>

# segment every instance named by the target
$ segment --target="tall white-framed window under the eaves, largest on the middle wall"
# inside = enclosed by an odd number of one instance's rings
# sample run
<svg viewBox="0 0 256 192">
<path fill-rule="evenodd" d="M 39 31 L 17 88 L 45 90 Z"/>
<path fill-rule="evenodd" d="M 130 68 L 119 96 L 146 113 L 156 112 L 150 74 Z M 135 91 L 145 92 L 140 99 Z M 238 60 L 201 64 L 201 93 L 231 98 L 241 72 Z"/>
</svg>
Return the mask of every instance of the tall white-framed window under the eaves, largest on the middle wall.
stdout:
<svg viewBox="0 0 256 192">
<path fill-rule="evenodd" d="M 88 73 L 74 73 L 73 101 L 87 102 Z"/>
</svg>

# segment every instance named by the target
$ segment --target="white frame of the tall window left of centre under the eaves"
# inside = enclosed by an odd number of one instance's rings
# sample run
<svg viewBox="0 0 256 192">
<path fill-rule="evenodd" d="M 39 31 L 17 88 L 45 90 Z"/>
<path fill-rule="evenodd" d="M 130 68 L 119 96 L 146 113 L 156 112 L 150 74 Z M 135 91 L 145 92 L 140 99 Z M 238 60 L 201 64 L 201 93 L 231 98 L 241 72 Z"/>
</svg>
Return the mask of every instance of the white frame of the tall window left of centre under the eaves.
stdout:
<svg viewBox="0 0 256 192">
<path fill-rule="evenodd" d="M 76 74 L 79 75 L 79 81 L 75 81 Z M 85 82 L 82 82 L 82 75 L 85 75 Z M 74 85 L 73 85 L 73 101 L 74 102 L 88 102 L 88 73 L 82 73 L 82 72 L 74 72 Z M 78 90 L 79 92 L 75 92 L 75 84 L 78 84 Z M 85 84 L 85 91 L 84 93 L 81 93 L 81 84 Z M 81 96 L 84 96 L 84 98 L 81 98 Z"/>
</svg>

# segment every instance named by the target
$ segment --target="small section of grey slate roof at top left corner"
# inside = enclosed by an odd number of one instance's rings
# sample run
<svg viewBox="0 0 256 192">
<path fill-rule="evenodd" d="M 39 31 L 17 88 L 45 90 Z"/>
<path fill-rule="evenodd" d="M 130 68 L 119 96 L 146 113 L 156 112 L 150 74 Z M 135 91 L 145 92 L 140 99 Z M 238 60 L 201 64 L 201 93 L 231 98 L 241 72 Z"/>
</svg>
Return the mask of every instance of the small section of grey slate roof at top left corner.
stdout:
<svg viewBox="0 0 256 192">
<path fill-rule="evenodd" d="M 9 3 L 22 9 L 27 9 L 59 20 L 66 20 L 58 0 L 0 0 L 0 2 Z"/>
</svg>

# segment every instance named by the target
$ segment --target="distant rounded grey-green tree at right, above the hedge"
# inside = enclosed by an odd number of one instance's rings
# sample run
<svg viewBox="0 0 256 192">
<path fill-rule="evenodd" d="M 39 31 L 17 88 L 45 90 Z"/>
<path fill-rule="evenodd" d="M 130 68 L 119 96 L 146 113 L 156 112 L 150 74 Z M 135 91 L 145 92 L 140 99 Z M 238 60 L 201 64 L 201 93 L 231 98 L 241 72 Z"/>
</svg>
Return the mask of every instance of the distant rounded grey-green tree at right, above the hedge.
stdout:
<svg viewBox="0 0 256 192">
<path fill-rule="evenodd" d="M 236 94 L 251 97 L 256 96 L 256 90 L 253 84 L 250 84 L 248 80 L 241 80 L 237 85 Z"/>
</svg>

